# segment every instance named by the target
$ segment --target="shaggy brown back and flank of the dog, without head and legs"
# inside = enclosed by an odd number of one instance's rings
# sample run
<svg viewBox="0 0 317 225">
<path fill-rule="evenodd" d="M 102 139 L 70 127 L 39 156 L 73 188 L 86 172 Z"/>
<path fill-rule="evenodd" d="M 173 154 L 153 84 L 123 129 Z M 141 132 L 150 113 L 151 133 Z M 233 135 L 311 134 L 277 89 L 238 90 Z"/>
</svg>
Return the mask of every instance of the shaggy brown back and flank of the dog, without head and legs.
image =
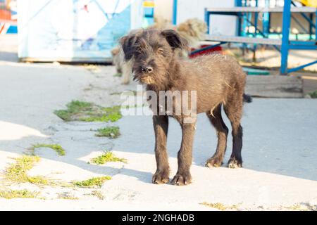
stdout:
<svg viewBox="0 0 317 225">
<path fill-rule="evenodd" d="M 186 83 L 176 89 L 197 91 L 197 113 L 225 103 L 233 92 L 243 98 L 246 75 L 235 58 L 211 54 L 180 60 L 180 64 L 180 75 L 186 76 Z"/>
</svg>

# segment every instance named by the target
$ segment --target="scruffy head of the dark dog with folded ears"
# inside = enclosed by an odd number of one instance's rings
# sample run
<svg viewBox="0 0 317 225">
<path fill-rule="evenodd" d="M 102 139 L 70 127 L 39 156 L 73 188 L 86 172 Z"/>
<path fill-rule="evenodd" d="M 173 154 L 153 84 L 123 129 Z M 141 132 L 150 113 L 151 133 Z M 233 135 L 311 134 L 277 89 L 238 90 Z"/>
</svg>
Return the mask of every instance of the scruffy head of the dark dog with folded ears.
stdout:
<svg viewBox="0 0 317 225">
<path fill-rule="evenodd" d="M 120 39 L 125 60 L 133 58 L 134 79 L 143 84 L 166 84 L 175 49 L 187 49 L 187 41 L 174 30 L 139 30 Z"/>
</svg>

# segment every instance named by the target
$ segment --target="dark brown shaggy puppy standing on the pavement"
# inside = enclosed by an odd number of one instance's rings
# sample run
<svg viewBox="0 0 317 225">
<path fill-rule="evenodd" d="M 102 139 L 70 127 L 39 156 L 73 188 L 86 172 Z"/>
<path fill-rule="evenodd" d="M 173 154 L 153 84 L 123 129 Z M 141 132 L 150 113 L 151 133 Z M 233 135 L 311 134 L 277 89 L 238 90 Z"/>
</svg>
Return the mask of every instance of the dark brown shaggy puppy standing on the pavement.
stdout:
<svg viewBox="0 0 317 225">
<path fill-rule="evenodd" d="M 228 167 L 242 167 L 242 106 L 246 75 L 234 58 L 213 54 L 194 60 L 179 58 L 175 49 L 185 49 L 187 43 L 174 30 L 140 30 L 120 39 L 125 60 L 133 59 L 134 78 L 147 85 L 148 91 L 197 91 L 197 108 L 193 113 L 206 113 L 216 128 L 218 145 L 216 153 L 206 162 L 208 167 L 219 167 L 227 146 L 228 128 L 221 117 L 221 105 L 232 125 L 233 146 Z M 159 97 L 160 98 L 160 97 Z M 191 98 L 191 96 L 189 96 Z M 184 100 L 182 100 L 184 101 Z M 186 185 L 192 180 L 189 172 L 192 165 L 194 122 L 185 122 L 189 115 L 182 110 L 175 114 L 175 107 L 182 101 L 173 100 L 174 117 L 182 127 L 182 144 L 178 152 L 178 172 L 172 184 Z M 160 106 L 157 106 L 160 108 Z M 153 108 L 152 108 L 153 110 Z M 168 112 L 154 115 L 155 155 L 157 170 L 154 184 L 169 181 L 166 139 Z"/>
</svg>

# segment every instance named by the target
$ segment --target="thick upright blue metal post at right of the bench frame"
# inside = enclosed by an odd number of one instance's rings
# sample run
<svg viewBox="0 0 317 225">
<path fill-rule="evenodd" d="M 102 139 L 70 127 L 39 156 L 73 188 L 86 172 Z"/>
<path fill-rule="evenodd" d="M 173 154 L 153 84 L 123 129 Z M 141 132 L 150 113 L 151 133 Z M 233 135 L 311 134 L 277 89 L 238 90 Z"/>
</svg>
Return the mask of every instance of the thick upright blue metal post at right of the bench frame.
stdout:
<svg viewBox="0 0 317 225">
<path fill-rule="evenodd" d="M 290 6 L 291 0 L 284 1 L 284 9 L 283 9 L 283 22 L 282 22 L 282 47 L 281 47 L 281 62 L 280 62 L 280 74 L 287 74 L 287 58 L 288 51 L 290 47 Z"/>
</svg>

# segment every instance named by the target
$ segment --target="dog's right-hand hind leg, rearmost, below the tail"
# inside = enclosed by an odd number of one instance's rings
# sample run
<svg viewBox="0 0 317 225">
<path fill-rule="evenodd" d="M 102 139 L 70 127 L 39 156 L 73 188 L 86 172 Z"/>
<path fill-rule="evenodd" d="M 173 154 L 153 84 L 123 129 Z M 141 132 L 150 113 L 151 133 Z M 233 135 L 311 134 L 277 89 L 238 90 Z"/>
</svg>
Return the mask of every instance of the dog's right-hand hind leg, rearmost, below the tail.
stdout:
<svg viewBox="0 0 317 225">
<path fill-rule="evenodd" d="M 240 124 L 242 118 L 243 97 L 242 94 L 232 93 L 224 105 L 225 114 L 231 122 L 232 126 L 232 154 L 228 161 L 228 167 L 242 167 L 242 127 Z"/>
</svg>

